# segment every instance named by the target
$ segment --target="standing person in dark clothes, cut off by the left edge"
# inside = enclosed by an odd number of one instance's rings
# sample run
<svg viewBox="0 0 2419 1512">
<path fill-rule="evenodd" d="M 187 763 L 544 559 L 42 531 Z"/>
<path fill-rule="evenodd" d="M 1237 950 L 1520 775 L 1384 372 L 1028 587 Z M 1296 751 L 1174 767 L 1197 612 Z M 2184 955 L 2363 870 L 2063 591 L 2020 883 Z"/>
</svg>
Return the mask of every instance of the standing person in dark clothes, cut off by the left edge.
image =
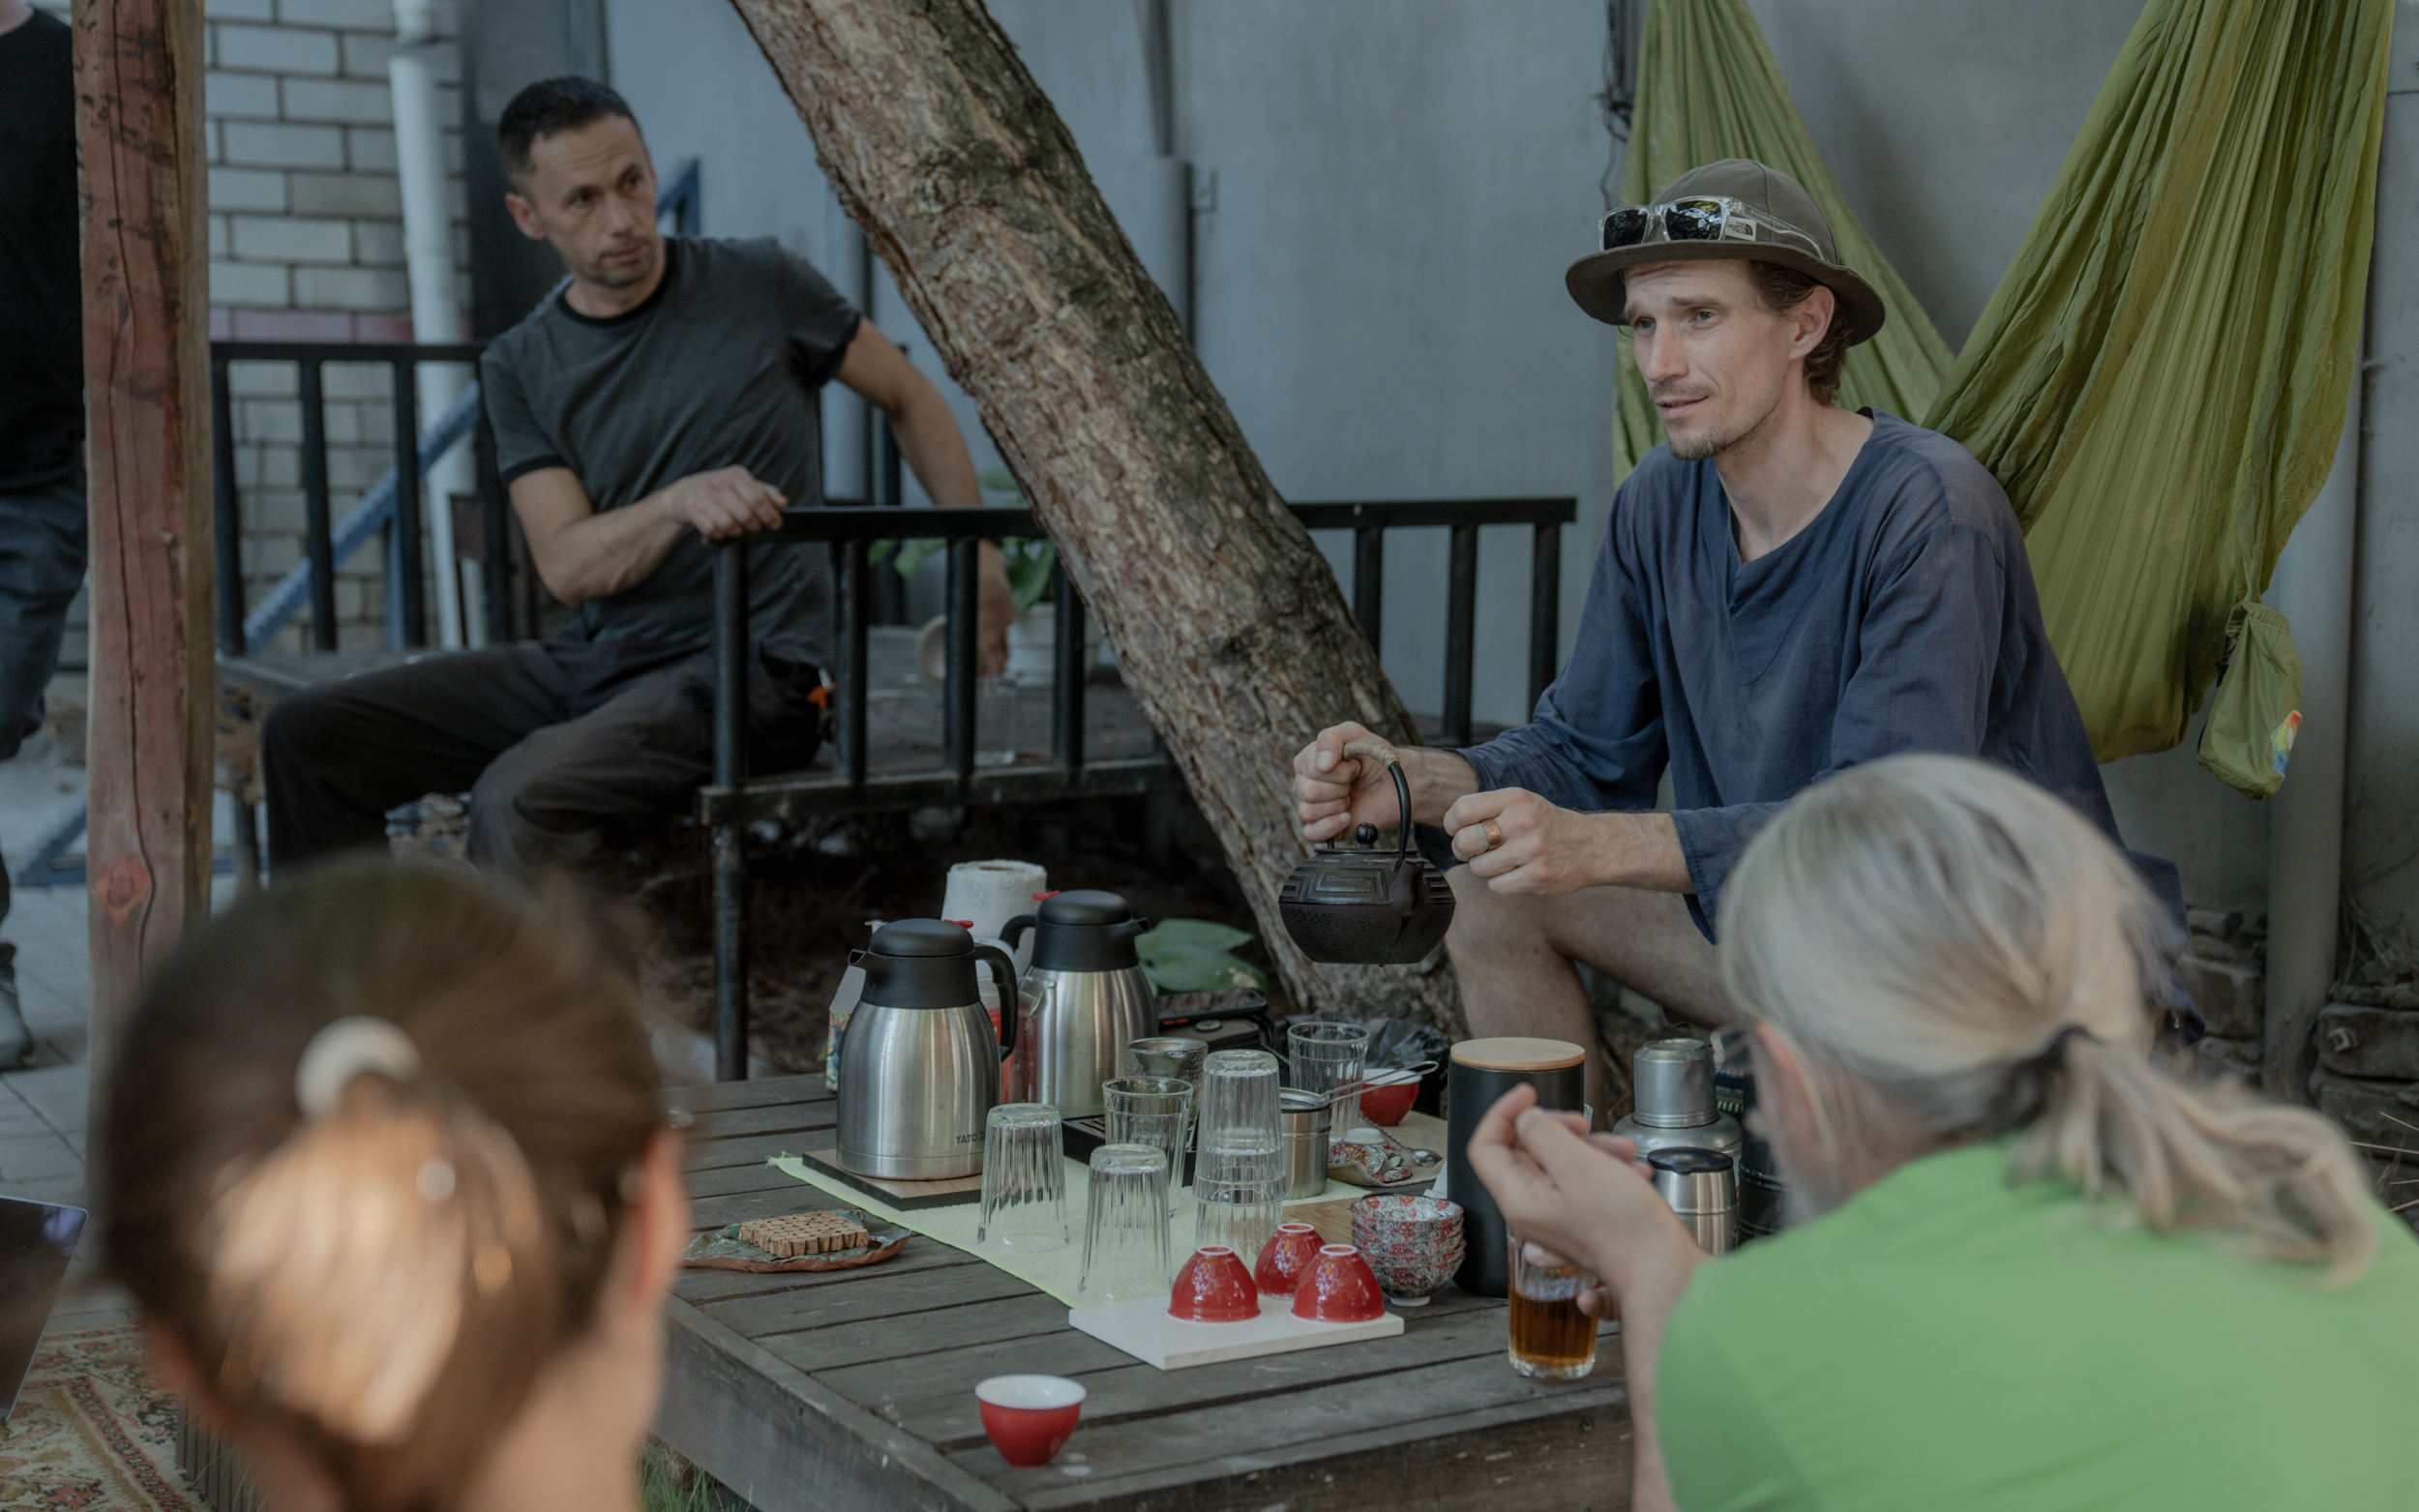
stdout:
<svg viewBox="0 0 2419 1512">
<path fill-rule="evenodd" d="M 68 24 L 0 0 L 0 760 L 41 728 L 85 581 L 85 334 Z M 0 919 L 7 861 L 0 859 Z M 0 943 L 0 1067 L 34 1055 Z"/>
</svg>

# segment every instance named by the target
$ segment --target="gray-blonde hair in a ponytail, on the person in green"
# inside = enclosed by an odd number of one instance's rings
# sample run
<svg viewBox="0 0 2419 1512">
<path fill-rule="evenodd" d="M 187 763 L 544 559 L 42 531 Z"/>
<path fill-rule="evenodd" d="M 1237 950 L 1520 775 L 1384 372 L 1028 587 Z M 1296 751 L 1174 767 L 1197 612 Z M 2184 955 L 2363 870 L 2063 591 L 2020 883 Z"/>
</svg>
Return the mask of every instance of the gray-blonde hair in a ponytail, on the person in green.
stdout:
<svg viewBox="0 0 2419 1512">
<path fill-rule="evenodd" d="M 2010 1178 L 2054 1173 L 2158 1231 L 2329 1282 L 2375 1251 L 2334 1125 L 2153 1064 L 2158 905 L 2017 777 L 1918 755 L 1807 789 L 1732 871 L 1720 934 L 1732 1002 L 1805 1052 L 1831 1166 L 2015 1132 Z"/>
</svg>

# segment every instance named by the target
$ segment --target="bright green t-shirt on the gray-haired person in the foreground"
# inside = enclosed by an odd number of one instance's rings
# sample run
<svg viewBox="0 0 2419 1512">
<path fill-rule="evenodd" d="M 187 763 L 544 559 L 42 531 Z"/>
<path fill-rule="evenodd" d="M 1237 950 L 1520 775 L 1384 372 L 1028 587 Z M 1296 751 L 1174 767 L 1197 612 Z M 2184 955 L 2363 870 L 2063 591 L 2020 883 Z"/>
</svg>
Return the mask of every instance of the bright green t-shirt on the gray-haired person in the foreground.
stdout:
<svg viewBox="0 0 2419 1512">
<path fill-rule="evenodd" d="M 1684 1512 L 2414 1507 L 2419 1243 L 2349 1287 L 1935 1154 L 1701 1265 L 1657 1367 Z"/>
</svg>

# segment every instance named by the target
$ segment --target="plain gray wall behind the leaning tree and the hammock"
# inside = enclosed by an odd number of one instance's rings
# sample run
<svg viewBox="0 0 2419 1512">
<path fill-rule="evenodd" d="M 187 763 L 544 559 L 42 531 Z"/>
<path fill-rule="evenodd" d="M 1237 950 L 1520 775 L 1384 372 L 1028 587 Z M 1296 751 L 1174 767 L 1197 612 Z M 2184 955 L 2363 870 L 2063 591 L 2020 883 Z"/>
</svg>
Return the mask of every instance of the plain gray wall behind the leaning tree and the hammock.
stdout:
<svg viewBox="0 0 2419 1512">
<path fill-rule="evenodd" d="M 854 259 L 796 114 L 735 15 L 709 0 L 605 0 L 617 85 L 658 165 L 706 160 L 706 230 L 779 235 Z M 1577 0 L 1176 0 L 1178 152 L 1214 172 L 1195 215 L 1195 339 L 1289 498 L 1577 494 L 1565 539 L 1565 644 L 1609 506 L 1611 331 L 1563 295 L 1601 208 L 1604 12 Z M 1892 264 L 1957 346 L 2032 223 L 2109 63 L 2129 0 L 1754 0 L 1817 145 Z M 994 12 L 1084 148 L 1120 218 L 1149 206 L 1151 131 L 1132 0 L 997 0 Z M 2412 31 L 2404 27 L 2404 31 Z M 2412 41 L 2397 39 L 2397 85 Z M 2371 312 L 2366 477 L 2400 477 L 2407 406 L 2407 179 L 2414 126 L 2395 99 Z M 2397 145 L 2400 143 L 2400 145 Z M 2400 174 L 2400 179 L 2395 177 Z M 1142 237 L 1137 237 L 1142 242 Z M 830 264 L 827 264 L 830 266 Z M 2388 278 L 2400 269 L 2402 278 Z M 876 319 L 924 351 L 895 295 Z M 2404 353 L 2380 358 L 2380 353 Z M 960 399 L 960 423 L 992 450 Z M 835 443 L 842 445 L 842 443 Z M 2395 467 L 2402 464 L 2402 467 Z M 835 462 L 835 479 L 851 472 Z M 2361 624 L 2419 644 L 2419 510 L 2363 501 Z M 1497 539 L 1502 537 L 1502 539 Z M 1478 716 L 1524 716 L 1519 532 L 1480 554 Z M 1340 542 L 1328 542 L 1350 578 Z M 1415 709 L 1439 704 L 1442 535 L 1389 549 L 1384 663 Z M 2419 895 L 2419 692 L 2397 658 L 2356 673 L 2359 813 L 2349 861 L 2378 898 Z M 2366 769 L 2366 779 L 2359 772 Z M 2264 905 L 2267 810 L 2206 777 L 2192 743 L 2107 769 L 2131 844 L 2175 856 L 2187 893 Z M 2354 832 L 2363 830 L 2354 823 Z M 2404 907 L 2407 902 L 2392 902 Z"/>
</svg>

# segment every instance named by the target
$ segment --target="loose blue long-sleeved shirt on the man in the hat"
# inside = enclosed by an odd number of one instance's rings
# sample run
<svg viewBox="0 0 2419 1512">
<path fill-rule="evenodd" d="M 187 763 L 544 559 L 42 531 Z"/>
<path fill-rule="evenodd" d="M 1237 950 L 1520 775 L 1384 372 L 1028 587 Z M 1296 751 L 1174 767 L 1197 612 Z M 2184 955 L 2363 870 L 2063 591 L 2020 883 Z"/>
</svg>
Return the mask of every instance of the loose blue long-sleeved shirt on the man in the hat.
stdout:
<svg viewBox="0 0 2419 1512">
<path fill-rule="evenodd" d="M 1713 462 L 1647 452 L 1613 496 L 1563 675 L 1526 726 L 1461 752 L 1480 789 L 1587 813 L 1655 808 L 1669 764 L 1708 939 L 1756 830 L 1800 789 L 1887 755 L 2005 767 L 2124 844 L 2008 494 L 1947 435 L 1860 414 L 1872 435 L 1838 494 L 1754 561 Z M 2175 866 L 2131 859 L 2182 943 Z"/>
</svg>

